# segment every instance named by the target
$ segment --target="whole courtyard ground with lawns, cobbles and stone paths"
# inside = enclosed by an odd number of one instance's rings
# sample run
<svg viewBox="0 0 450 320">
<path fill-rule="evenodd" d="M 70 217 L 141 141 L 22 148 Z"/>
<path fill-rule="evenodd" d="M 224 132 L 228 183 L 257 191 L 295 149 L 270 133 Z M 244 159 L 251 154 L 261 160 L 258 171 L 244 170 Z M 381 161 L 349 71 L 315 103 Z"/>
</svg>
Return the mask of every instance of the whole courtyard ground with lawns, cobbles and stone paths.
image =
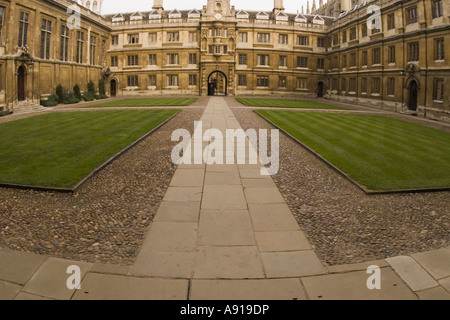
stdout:
<svg viewBox="0 0 450 320">
<path fill-rule="evenodd" d="M 2 299 L 449 298 L 447 123 L 323 99 L 190 98 L 109 99 L 0 118 L 2 141 L 12 139 L 0 152 Z M 174 164 L 172 133 L 194 134 L 194 121 L 224 136 L 277 124 L 289 134 L 280 133 L 278 173 L 261 175 L 248 152 L 224 155 L 234 164 Z M 55 123 L 65 130 L 36 138 Z M 361 129 L 386 124 L 394 134 Z M 127 129 L 114 135 L 117 125 Z M 331 130 L 348 136 L 327 145 L 321 136 Z M 202 150 L 214 141 L 204 137 Z M 423 159 L 398 169 L 420 146 Z M 350 172 L 341 153 L 361 157 L 366 174 Z M 8 170 L 13 163 L 20 169 Z M 80 269 L 80 290 L 68 289 L 69 266 Z M 373 266 L 380 290 L 367 286 Z"/>
</svg>

